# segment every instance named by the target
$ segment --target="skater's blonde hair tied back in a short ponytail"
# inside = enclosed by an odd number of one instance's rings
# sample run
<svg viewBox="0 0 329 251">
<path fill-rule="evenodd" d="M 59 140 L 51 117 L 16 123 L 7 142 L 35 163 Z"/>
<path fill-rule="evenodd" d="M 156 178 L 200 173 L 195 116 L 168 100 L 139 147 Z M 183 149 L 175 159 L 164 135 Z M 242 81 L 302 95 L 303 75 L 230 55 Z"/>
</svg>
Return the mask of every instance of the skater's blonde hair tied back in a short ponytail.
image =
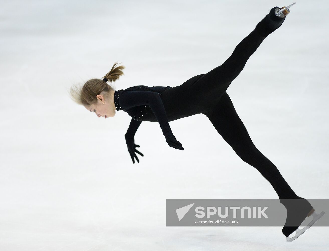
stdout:
<svg viewBox="0 0 329 251">
<path fill-rule="evenodd" d="M 117 64 L 118 63 L 115 63 L 112 66 L 112 69 L 102 77 L 102 79 L 90 79 L 83 85 L 83 87 L 73 85 L 70 88 L 71 99 L 79 105 L 89 106 L 97 102 L 96 96 L 101 94 L 101 92 L 105 92 L 105 96 L 108 97 L 110 91 L 114 91 L 114 89 L 107 82 L 115 82 L 115 80 L 118 80 L 119 77 L 123 75 L 122 70 L 125 68 L 123 65 L 115 67 Z M 103 78 L 106 78 L 107 81 L 105 82 Z"/>
</svg>

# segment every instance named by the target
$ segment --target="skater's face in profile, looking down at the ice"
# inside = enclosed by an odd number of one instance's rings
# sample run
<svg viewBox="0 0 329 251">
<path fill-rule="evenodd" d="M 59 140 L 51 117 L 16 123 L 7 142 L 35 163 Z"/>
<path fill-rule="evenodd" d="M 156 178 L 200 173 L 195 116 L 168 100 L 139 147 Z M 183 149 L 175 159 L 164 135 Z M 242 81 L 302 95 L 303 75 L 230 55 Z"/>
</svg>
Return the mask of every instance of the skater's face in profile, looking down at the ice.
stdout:
<svg viewBox="0 0 329 251">
<path fill-rule="evenodd" d="M 113 102 L 112 102 L 113 103 Z M 115 106 L 103 95 L 97 95 L 97 102 L 95 104 L 85 106 L 89 112 L 93 112 L 97 115 L 98 118 L 108 118 L 114 117 L 115 115 Z"/>
</svg>

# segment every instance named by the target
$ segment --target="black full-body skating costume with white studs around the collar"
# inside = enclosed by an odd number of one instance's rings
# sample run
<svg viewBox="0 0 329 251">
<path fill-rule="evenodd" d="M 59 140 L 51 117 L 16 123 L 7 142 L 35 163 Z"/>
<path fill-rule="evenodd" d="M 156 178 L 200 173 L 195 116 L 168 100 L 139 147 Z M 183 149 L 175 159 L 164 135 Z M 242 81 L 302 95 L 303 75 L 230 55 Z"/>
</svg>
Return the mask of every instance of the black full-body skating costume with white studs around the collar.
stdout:
<svg viewBox="0 0 329 251">
<path fill-rule="evenodd" d="M 273 9 L 271 12 L 274 12 Z M 270 182 L 280 199 L 296 198 L 279 170 L 253 144 L 226 93 L 249 57 L 266 36 L 281 26 L 283 20 L 284 18 L 266 15 L 222 65 L 206 74 L 196 75 L 180 86 L 138 85 L 115 91 L 116 110 L 123 110 L 132 117 L 125 134 L 126 140 L 134 138 L 142 121 L 159 122 L 167 140 L 173 136 L 168 121 L 205 114 L 240 158 L 255 167 Z"/>
</svg>

